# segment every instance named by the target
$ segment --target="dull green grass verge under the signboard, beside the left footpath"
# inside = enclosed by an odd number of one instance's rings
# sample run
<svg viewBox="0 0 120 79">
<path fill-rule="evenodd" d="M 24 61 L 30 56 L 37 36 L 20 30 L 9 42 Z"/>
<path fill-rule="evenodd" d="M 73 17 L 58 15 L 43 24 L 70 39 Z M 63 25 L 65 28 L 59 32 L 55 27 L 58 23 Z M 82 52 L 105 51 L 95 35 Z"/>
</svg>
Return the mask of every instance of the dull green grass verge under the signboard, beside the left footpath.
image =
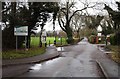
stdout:
<svg viewBox="0 0 120 79">
<path fill-rule="evenodd" d="M 32 57 L 36 55 L 41 55 L 45 53 L 45 47 L 39 48 L 34 47 L 30 48 L 29 50 L 9 50 L 2 52 L 2 59 L 18 59 L 18 58 L 26 58 L 26 57 Z"/>
</svg>

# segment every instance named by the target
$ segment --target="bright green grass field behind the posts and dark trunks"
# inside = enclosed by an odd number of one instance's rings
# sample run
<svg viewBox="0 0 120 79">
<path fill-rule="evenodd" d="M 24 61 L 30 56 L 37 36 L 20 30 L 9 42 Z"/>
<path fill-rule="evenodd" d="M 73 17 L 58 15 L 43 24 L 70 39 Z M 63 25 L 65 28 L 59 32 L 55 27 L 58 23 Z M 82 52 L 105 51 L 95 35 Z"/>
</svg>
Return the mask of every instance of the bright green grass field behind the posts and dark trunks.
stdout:
<svg viewBox="0 0 120 79">
<path fill-rule="evenodd" d="M 49 44 L 54 44 L 54 39 L 55 37 L 47 37 L 47 45 Z M 61 38 L 56 37 L 56 44 L 61 45 Z M 66 45 L 66 38 L 62 38 L 62 45 Z M 31 46 L 38 46 L 39 45 L 39 37 L 31 37 Z"/>
</svg>

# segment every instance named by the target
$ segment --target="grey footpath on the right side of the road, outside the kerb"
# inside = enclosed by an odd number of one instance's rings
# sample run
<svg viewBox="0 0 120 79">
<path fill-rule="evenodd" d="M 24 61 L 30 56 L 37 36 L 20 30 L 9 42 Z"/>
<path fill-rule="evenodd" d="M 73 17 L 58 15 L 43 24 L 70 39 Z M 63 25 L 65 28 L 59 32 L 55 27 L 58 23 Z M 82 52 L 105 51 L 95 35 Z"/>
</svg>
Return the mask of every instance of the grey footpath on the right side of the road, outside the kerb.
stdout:
<svg viewBox="0 0 120 79">
<path fill-rule="evenodd" d="M 96 57 L 97 63 L 107 79 L 120 79 L 120 65 L 110 59 L 105 52 L 99 47 Z"/>
</svg>

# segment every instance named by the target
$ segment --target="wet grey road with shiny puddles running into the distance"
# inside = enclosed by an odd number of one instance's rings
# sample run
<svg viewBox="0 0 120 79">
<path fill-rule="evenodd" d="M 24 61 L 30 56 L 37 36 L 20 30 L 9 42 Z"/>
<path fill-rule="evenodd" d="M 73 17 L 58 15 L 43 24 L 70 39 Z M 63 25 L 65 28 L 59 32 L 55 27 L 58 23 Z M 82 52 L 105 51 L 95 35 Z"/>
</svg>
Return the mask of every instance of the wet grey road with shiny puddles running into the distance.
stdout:
<svg viewBox="0 0 120 79">
<path fill-rule="evenodd" d="M 89 44 L 86 38 L 58 51 L 60 57 L 32 64 L 27 67 L 29 71 L 19 77 L 103 77 L 94 57 L 97 47 Z"/>
</svg>

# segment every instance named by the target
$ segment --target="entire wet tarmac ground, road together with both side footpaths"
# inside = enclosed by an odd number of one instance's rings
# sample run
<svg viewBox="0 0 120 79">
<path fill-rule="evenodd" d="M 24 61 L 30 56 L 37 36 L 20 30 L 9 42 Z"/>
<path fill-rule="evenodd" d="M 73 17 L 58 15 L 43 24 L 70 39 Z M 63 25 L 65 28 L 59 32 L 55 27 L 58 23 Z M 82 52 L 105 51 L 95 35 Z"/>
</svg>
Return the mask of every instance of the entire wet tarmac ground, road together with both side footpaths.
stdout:
<svg viewBox="0 0 120 79">
<path fill-rule="evenodd" d="M 47 48 L 45 55 L 39 57 L 23 59 L 24 61 L 14 60 L 15 62 L 13 60 L 3 60 L 3 77 L 98 78 L 106 76 L 119 79 L 118 64 L 109 59 L 103 51 L 99 50 L 97 45 L 90 44 L 87 38 L 84 38 L 77 45 L 58 48 L 50 46 Z M 48 59 L 56 58 L 38 63 L 44 58 L 46 60 L 47 57 Z M 37 63 L 35 64 L 34 62 Z M 14 74 L 15 72 L 16 74 Z"/>
</svg>

